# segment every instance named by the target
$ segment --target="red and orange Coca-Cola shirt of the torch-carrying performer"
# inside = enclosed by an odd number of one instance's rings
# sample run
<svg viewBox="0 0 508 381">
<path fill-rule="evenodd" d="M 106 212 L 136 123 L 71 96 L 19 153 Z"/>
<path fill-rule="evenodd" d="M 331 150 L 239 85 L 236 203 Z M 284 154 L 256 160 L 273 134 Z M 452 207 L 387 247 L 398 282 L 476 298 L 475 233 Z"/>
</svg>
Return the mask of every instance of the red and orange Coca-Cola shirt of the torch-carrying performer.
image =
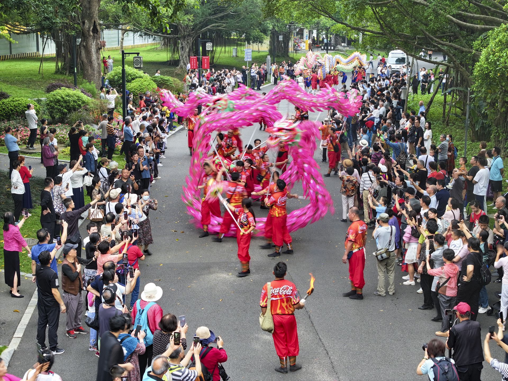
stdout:
<svg viewBox="0 0 508 381">
<path fill-rule="evenodd" d="M 294 304 L 300 302 L 300 295 L 298 295 L 295 283 L 286 279 L 275 279 L 272 280 L 270 286 L 272 289 L 270 301 L 272 315 L 292 315 L 295 312 Z M 261 291 L 259 305 L 261 307 L 268 306 L 267 283 Z"/>
</svg>

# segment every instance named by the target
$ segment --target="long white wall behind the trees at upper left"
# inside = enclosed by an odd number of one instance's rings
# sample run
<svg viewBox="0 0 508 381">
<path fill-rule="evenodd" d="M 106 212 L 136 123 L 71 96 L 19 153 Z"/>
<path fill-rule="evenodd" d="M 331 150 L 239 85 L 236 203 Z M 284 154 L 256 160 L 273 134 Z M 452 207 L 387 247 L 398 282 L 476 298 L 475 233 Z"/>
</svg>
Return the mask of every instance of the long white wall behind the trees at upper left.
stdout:
<svg viewBox="0 0 508 381">
<path fill-rule="evenodd" d="M 118 48 L 120 46 L 120 30 L 103 30 L 102 35 L 102 39 L 106 41 L 106 49 L 104 50 L 114 50 L 114 48 Z M 11 38 L 16 41 L 16 43 L 10 43 L 5 39 L 0 39 L 0 60 L 41 56 L 44 42 L 39 34 L 17 35 L 11 33 Z M 142 36 L 136 33 L 127 32 L 123 37 L 123 46 L 148 45 L 155 44 L 160 41 L 160 37 Z M 44 56 L 53 56 L 55 51 L 55 44 L 53 40 L 48 40 L 46 47 L 44 48 Z"/>
</svg>

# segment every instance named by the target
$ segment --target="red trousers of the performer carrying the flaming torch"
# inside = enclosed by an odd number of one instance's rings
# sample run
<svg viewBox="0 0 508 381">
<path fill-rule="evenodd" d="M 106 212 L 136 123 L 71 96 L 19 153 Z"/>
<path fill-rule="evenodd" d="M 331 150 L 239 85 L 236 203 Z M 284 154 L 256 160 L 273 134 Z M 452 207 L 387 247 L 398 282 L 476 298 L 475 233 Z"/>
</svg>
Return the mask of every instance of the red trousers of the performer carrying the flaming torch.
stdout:
<svg viewBox="0 0 508 381">
<path fill-rule="evenodd" d="M 295 315 L 273 315 L 273 343 L 277 356 L 298 356 L 298 330 Z"/>
</svg>

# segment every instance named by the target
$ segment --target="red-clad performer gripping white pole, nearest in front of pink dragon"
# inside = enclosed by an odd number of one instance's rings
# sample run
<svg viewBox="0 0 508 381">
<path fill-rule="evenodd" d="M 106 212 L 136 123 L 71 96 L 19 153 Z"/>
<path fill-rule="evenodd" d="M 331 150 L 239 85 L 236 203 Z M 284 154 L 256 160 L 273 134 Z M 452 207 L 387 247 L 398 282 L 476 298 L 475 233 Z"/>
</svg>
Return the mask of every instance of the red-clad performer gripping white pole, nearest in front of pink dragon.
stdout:
<svg viewBox="0 0 508 381">
<path fill-rule="evenodd" d="M 252 200 L 250 199 L 243 199 L 240 208 L 232 206 L 226 200 L 223 200 L 223 204 L 226 208 L 229 208 L 229 210 L 238 215 L 237 222 L 240 229 L 236 230 L 236 243 L 238 244 L 238 259 L 242 265 L 242 271 L 239 271 L 236 276 L 242 278 L 250 274 L 250 233 L 256 228 L 256 215 L 252 210 Z"/>
</svg>

